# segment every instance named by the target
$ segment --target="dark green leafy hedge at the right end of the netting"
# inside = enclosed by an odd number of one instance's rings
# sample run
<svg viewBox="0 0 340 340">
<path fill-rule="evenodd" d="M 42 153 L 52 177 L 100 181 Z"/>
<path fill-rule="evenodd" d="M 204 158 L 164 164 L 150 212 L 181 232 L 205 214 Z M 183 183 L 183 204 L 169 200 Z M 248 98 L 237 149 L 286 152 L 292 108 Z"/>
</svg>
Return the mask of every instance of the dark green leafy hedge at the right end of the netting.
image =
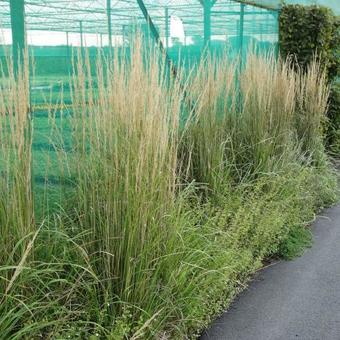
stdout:
<svg viewBox="0 0 340 340">
<path fill-rule="evenodd" d="M 320 6 L 288 5 L 280 14 L 280 52 L 305 70 L 314 58 L 325 67 L 331 86 L 329 96 L 326 144 L 340 151 L 340 90 L 336 84 L 340 74 L 340 18 Z"/>
</svg>

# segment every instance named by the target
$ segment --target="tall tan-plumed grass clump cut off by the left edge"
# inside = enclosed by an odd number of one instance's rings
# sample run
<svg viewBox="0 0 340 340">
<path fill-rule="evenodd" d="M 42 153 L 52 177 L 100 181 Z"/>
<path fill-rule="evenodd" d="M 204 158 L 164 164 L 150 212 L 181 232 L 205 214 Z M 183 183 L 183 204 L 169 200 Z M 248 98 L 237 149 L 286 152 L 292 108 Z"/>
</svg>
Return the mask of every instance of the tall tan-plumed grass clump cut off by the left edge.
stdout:
<svg viewBox="0 0 340 340">
<path fill-rule="evenodd" d="M 27 58 L 6 79 L 0 83 L 0 264 L 15 265 L 25 252 L 24 238 L 35 231 Z"/>
</svg>

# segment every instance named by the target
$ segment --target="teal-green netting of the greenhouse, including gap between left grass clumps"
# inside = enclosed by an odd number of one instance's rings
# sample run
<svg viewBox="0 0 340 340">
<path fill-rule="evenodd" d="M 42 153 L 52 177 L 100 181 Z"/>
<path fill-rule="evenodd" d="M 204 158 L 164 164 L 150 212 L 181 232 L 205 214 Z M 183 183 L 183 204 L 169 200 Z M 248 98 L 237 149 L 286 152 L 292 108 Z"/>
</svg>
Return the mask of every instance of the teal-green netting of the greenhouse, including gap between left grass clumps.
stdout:
<svg viewBox="0 0 340 340">
<path fill-rule="evenodd" d="M 279 0 L 0 0 L 0 62 L 4 65 L 12 57 L 17 67 L 25 46 L 31 59 L 37 183 L 52 188 L 58 184 L 58 174 L 55 179 L 53 173 L 45 176 L 46 164 L 53 168 L 56 155 L 44 103 L 57 101 L 61 88 L 64 100 L 70 100 L 68 78 L 79 50 L 95 63 L 98 53 L 129 48 L 135 33 L 142 31 L 174 65 L 194 65 L 206 51 L 224 50 L 230 59 L 244 62 L 250 47 L 263 52 L 277 49 L 281 5 Z M 70 127 L 63 131 L 67 140 Z"/>
</svg>

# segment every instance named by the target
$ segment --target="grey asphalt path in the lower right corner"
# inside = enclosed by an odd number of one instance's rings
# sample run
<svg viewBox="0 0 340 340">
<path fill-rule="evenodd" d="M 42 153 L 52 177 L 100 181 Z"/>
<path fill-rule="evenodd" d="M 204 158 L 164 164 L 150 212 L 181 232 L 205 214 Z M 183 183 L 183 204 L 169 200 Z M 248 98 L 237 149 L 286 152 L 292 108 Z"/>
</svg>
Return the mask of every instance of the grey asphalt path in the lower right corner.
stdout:
<svg viewBox="0 0 340 340">
<path fill-rule="evenodd" d="M 312 231 L 312 248 L 259 272 L 201 340 L 339 340 L 340 206 Z"/>
</svg>

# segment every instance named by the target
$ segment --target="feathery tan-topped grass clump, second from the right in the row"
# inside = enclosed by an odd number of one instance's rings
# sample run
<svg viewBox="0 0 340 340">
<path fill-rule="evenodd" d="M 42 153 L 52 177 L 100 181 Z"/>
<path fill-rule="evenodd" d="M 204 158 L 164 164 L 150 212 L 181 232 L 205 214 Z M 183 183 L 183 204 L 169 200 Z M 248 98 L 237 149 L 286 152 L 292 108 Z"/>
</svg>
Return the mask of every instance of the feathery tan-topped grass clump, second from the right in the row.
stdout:
<svg viewBox="0 0 340 340">
<path fill-rule="evenodd" d="M 235 121 L 240 165 L 250 174 L 281 171 L 298 147 L 296 79 L 289 63 L 250 55 L 240 75 L 242 109 Z M 243 148 L 243 150 L 242 150 Z"/>
</svg>

